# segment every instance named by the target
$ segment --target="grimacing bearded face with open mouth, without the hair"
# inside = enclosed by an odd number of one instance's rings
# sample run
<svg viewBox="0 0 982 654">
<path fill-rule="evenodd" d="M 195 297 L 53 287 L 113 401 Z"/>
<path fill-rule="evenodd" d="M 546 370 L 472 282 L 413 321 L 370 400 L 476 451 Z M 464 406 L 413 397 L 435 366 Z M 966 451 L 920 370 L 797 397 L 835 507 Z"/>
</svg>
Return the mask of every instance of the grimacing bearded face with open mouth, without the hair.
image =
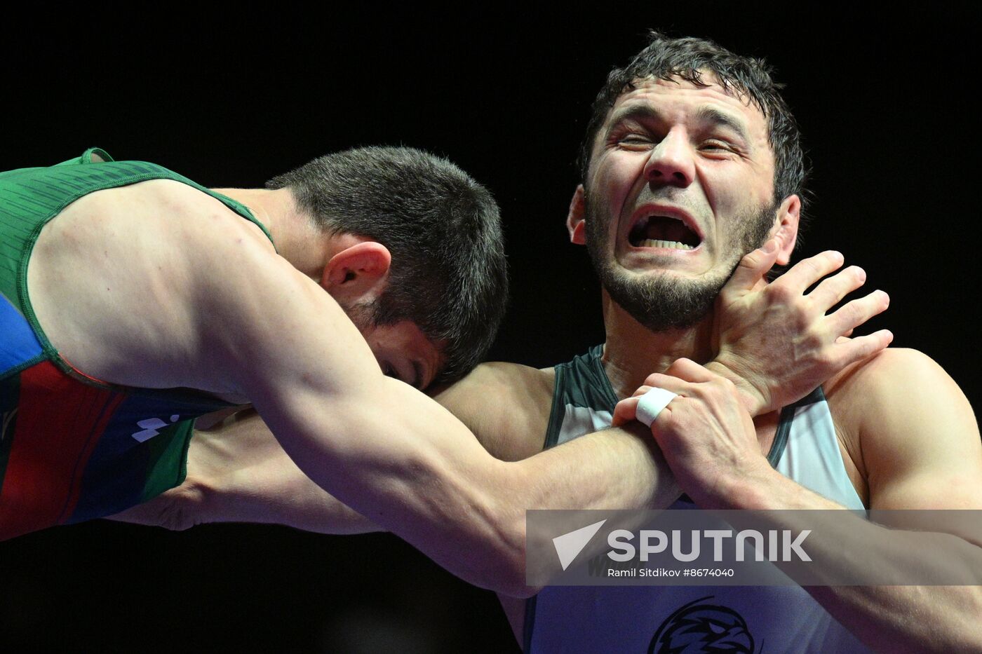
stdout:
<svg viewBox="0 0 982 654">
<path fill-rule="evenodd" d="M 705 316 L 785 208 L 764 115 L 715 82 L 636 82 L 598 131 L 584 192 L 601 282 L 653 331 Z"/>
</svg>

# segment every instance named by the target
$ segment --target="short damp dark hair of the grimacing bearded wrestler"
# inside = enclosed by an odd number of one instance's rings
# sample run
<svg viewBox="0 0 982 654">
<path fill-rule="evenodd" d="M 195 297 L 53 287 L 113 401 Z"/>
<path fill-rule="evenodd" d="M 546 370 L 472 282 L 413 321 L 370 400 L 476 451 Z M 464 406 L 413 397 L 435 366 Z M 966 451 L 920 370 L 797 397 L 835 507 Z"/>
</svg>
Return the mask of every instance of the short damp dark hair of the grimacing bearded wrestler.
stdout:
<svg viewBox="0 0 982 654">
<path fill-rule="evenodd" d="M 763 59 L 741 57 L 706 38 L 670 38 L 654 30 L 648 35 L 648 45 L 634 55 L 627 66 L 610 72 L 607 83 L 593 101 L 593 115 L 579 147 L 581 180 L 586 181 L 593 141 L 607 113 L 622 93 L 634 88 L 635 81 L 678 78 L 708 86 L 710 82 L 702 79 L 703 73 L 708 71 L 727 92 L 745 96 L 767 119 L 768 140 L 774 151 L 774 201 L 777 203 L 791 194 L 798 194 L 803 219 L 808 166 L 797 123 L 780 93 L 784 84 L 771 78 L 773 69 Z"/>
</svg>

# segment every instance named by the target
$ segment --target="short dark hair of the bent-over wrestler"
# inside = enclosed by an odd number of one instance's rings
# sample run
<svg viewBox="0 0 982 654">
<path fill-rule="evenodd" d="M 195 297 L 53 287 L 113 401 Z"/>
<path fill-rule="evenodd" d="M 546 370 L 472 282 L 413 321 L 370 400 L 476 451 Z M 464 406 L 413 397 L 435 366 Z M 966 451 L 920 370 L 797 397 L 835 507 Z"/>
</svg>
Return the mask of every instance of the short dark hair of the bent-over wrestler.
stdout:
<svg viewBox="0 0 982 654">
<path fill-rule="evenodd" d="M 392 267 L 374 306 L 376 324 L 411 320 L 446 342 L 437 381 L 476 365 L 491 347 L 508 301 L 498 205 L 453 163 L 410 147 L 335 152 L 266 183 L 289 188 L 328 234 L 385 245 Z"/>
</svg>

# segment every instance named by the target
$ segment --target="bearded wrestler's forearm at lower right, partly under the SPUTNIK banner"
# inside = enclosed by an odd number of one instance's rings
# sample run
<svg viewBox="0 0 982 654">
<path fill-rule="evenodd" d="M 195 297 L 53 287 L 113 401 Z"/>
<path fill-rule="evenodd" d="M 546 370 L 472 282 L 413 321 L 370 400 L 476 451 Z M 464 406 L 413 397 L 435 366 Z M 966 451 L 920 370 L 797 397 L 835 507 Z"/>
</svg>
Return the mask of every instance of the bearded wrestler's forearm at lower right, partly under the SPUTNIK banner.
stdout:
<svg viewBox="0 0 982 654">
<path fill-rule="evenodd" d="M 952 533 L 890 529 L 845 511 L 771 511 L 843 509 L 786 477 L 741 485 L 732 497 L 728 508 L 763 510 L 760 515 L 773 521 L 769 528 L 811 530 L 809 573 L 818 575 L 820 584 L 805 589 L 873 649 L 982 649 L 982 585 L 830 585 L 844 579 L 909 579 L 913 571 L 982 584 L 982 549 L 972 542 Z"/>
</svg>

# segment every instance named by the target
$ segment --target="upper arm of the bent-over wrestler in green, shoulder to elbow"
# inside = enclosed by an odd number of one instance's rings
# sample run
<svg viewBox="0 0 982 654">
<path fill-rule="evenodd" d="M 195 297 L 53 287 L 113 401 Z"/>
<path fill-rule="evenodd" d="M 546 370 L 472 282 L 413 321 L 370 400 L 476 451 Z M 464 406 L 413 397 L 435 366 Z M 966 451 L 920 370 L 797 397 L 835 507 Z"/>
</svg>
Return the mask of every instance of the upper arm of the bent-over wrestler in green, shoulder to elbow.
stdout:
<svg viewBox="0 0 982 654">
<path fill-rule="evenodd" d="M 452 572 L 513 587 L 524 524 L 515 496 L 527 471 L 496 461 L 449 411 L 385 377 L 337 303 L 288 265 L 256 272 L 241 262 L 250 272 L 235 284 L 215 282 L 227 292 L 209 332 L 212 367 L 319 487 Z"/>
</svg>

